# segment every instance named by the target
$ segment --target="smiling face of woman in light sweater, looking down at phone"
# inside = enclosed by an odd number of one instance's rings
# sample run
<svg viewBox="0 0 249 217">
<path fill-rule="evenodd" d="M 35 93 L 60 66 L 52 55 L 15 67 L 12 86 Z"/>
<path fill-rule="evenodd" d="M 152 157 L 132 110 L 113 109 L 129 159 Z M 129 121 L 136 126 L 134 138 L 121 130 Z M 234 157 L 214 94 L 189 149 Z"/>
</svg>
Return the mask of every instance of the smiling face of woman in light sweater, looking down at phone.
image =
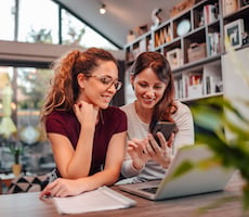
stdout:
<svg viewBox="0 0 249 217">
<path fill-rule="evenodd" d="M 152 68 L 145 68 L 135 77 L 132 76 L 131 84 L 134 87 L 137 105 L 143 111 L 153 110 L 167 88 Z"/>
</svg>

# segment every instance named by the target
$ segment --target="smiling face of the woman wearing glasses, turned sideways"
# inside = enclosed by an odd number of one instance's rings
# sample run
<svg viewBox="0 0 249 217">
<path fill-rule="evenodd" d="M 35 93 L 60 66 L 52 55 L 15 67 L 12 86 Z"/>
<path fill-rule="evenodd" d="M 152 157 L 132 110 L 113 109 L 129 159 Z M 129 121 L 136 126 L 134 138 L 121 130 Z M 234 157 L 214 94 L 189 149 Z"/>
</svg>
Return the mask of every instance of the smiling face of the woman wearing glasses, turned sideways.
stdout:
<svg viewBox="0 0 249 217">
<path fill-rule="evenodd" d="M 103 78 L 110 78 L 112 82 L 105 84 Z M 118 68 L 113 61 L 99 61 L 91 76 L 78 75 L 81 88 L 78 100 L 83 100 L 100 108 L 106 108 L 116 93 L 115 82 L 118 80 Z"/>
</svg>

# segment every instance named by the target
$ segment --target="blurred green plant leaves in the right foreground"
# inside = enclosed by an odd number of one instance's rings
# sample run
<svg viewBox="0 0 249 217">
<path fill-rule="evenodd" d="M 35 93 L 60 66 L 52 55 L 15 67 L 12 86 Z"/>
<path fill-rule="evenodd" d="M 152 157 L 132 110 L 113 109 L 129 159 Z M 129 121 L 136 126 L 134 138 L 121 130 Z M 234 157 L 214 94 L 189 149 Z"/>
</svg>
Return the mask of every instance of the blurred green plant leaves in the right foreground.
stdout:
<svg viewBox="0 0 249 217">
<path fill-rule="evenodd" d="M 227 40 L 225 43 L 232 64 L 249 88 L 248 68 L 243 67 Z M 244 208 L 249 209 L 249 117 L 239 110 L 241 106 L 249 111 L 249 100 L 224 95 L 200 100 L 192 107 L 192 112 L 195 123 L 204 129 L 196 133 L 196 143 L 208 144 L 224 167 L 235 167 L 240 171 L 245 180 Z"/>
</svg>

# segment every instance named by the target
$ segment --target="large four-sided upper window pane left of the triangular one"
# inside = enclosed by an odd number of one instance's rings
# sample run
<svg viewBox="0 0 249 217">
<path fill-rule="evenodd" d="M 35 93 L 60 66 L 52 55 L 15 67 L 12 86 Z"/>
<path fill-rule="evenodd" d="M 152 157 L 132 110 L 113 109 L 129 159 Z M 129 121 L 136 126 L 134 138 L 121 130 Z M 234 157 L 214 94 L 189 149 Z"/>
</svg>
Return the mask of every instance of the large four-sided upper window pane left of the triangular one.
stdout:
<svg viewBox="0 0 249 217">
<path fill-rule="evenodd" d="M 18 41 L 58 43 L 58 5 L 51 0 L 19 0 Z"/>
</svg>

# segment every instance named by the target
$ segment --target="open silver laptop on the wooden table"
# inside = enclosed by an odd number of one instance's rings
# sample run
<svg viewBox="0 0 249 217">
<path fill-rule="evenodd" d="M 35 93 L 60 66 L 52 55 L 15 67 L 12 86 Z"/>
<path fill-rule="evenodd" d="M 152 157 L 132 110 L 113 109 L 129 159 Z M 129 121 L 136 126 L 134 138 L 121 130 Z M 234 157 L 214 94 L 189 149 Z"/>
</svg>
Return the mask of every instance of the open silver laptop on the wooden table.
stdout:
<svg viewBox="0 0 249 217">
<path fill-rule="evenodd" d="M 162 180 L 120 184 L 118 188 L 153 201 L 222 191 L 235 173 L 235 168 L 224 168 L 220 164 L 206 164 L 205 168 L 195 166 L 185 174 L 172 178 L 180 165 L 186 161 L 197 163 L 212 156 L 213 153 L 207 145 L 183 146 L 176 152 Z"/>
</svg>

